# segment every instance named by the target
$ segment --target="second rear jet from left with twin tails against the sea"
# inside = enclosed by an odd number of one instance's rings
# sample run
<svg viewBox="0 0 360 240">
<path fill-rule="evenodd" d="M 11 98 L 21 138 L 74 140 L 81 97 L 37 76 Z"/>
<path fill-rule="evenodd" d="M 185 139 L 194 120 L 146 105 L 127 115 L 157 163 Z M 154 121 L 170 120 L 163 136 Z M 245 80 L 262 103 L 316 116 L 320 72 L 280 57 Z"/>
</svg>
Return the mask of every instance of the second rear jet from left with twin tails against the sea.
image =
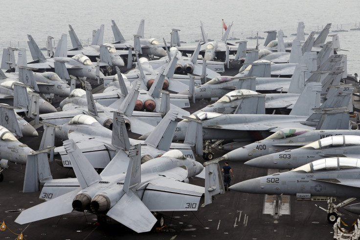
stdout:
<svg viewBox="0 0 360 240">
<path fill-rule="evenodd" d="M 88 57 L 92 57 L 92 61 L 96 61 L 96 57 L 100 58 L 100 61 L 105 61 L 105 58 L 110 57 L 109 65 L 114 67 L 123 67 L 125 66 L 124 60 L 121 56 L 116 52 L 115 47 L 110 43 L 103 44 L 104 37 L 104 24 L 101 24 L 100 28 L 96 31 L 96 35 L 94 36 L 92 43 L 90 46 L 83 47 L 80 40 L 75 34 L 74 29 L 69 24 L 69 35 L 72 43 L 72 49 L 67 50 L 67 56 L 72 57 L 77 54 L 83 54 Z M 104 49 L 101 46 L 106 46 Z M 106 57 L 104 56 L 106 55 Z M 104 59 L 102 59 L 104 58 Z"/>
</svg>

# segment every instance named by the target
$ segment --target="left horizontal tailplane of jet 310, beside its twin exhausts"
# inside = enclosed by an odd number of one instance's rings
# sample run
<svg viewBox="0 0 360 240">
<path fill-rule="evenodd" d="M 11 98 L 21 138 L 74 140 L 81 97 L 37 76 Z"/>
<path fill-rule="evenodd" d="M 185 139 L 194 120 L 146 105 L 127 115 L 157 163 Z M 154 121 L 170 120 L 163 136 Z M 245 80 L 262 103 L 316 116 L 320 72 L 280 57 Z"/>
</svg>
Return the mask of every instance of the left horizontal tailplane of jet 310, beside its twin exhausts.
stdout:
<svg viewBox="0 0 360 240">
<path fill-rule="evenodd" d="M 74 197 L 79 192 L 79 190 L 80 189 L 76 189 L 50 201 L 41 203 L 29 209 L 25 209 L 15 219 L 15 222 L 19 224 L 25 224 L 53 216 L 71 213 L 73 210 L 72 200 L 74 200 Z"/>
</svg>

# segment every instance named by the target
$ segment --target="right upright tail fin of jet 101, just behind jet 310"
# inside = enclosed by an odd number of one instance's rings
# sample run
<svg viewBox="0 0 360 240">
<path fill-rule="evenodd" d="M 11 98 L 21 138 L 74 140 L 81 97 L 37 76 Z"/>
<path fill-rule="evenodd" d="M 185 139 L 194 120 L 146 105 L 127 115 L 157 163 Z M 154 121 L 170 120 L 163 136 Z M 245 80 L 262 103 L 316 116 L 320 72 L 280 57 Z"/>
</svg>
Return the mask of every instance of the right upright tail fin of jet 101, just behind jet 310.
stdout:
<svg viewBox="0 0 360 240">
<path fill-rule="evenodd" d="M 178 113 L 170 110 L 150 133 L 144 143 L 159 150 L 168 151 L 175 135 L 175 128 L 178 125 L 178 122 L 175 121 L 177 117 Z"/>
</svg>

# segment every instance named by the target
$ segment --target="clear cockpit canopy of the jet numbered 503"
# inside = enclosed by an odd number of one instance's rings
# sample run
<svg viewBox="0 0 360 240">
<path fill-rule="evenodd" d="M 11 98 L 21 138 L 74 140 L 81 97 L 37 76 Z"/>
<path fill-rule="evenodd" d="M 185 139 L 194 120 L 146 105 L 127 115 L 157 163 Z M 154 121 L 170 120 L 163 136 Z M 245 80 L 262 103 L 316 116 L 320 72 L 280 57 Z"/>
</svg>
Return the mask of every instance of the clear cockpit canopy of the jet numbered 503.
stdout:
<svg viewBox="0 0 360 240">
<path fill-rule="evenodd" d="M 323 148 L 328 148 L 328 147 L 343 146 L 344 144 L 345 144 L 345 146 L 360 145 L 360 136 L 354 136 L 354 135 L 331 136 L 331 137 L 320 139 L 311 144 L 307 144 L 305 146 L 302 146 L 301 148 L 323 149 Z"/>
</svg>

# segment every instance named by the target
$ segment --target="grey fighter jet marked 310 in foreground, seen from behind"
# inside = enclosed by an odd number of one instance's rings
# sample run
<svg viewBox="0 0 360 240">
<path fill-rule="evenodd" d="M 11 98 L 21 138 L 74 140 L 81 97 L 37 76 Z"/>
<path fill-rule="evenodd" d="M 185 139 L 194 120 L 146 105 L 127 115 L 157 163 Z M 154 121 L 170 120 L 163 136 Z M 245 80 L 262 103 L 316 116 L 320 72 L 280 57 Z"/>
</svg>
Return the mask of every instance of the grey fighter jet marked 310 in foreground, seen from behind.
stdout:
<svg viewBox="0 0 360 240">
<path fill-rule="evenodd" d="M 212 172 L 206 168 L 207 189 L 181 182 L 199 174 L 203 166 L 186 158 L 179 150 L 168 151 L 140 165 L 141 144 L 137 144 L 129 150 L 130 162 L 112 160 L 99 175 L 73 141 L 65 141 L 64 146 L 74 163 L 77 179 L 57 179 L 56 186 L 44 187 L 54 192 L 66 185 L 68 191 L 60 196 L 54 193 L 53 197 L 57 197 L 22 211 L 15 220 L 17 223 L 87 210 L 96 214 L 99 221 L 102 217 L 111 217 L 141 233 L 150 231 L 157 221 L 160 226 L 164 224 L 163 216 L 157 211 L 196 211 L 204 193 L 207 204 L 211 203 L 213 194 L 221 192 L 222 180 L 216 172 L 220 170 L 219 165 Z M 128 165 L 126 173 L 114 171 L 124 164 Z M 210 181 L 216 185 L 209 185 Z M 73 185 L 69 187 L 69 183 Z"/>
</svg>

